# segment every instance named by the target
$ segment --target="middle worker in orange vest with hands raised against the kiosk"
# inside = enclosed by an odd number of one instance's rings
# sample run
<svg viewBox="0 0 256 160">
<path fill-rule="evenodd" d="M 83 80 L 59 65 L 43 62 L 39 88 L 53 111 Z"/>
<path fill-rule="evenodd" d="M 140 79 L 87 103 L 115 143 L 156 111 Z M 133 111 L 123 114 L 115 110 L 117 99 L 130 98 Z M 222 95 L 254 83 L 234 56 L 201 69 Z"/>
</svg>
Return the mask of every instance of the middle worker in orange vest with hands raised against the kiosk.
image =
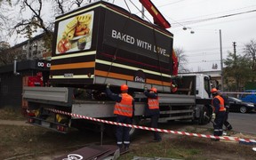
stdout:
<svg viewBox="0 0 256 160">
<path fill-rule="evenodd" d="M 159 98 L 157 94 L 157 90 L 155 87 L 152 87 L 148 92 L 148 88 L 145 87 L 144 94 L 148 97 L 148 103 L 145 108 L 145 116 L 149 116 L 151 118 L 151 127 L 157 128 L 158 119 L 160 115 L 159 110 Z M 162 138 L 159 132 L 153 132 L 154 140 L 153 141 L 161 141 Z"/>
</svg>

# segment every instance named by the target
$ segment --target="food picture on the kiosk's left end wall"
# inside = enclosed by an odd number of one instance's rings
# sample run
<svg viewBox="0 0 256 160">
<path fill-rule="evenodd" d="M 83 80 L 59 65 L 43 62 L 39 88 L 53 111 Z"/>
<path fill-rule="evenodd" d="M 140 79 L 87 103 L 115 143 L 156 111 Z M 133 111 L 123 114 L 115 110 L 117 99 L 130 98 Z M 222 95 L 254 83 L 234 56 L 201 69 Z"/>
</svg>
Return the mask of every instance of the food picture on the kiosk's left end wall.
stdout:
<svg viewBox="0 0 256 160">
<path fill-rule="evenodd" d="M 92 45 L 93 11 L 60 21 L 56 54 L 88 50 Z"/>
</svg>

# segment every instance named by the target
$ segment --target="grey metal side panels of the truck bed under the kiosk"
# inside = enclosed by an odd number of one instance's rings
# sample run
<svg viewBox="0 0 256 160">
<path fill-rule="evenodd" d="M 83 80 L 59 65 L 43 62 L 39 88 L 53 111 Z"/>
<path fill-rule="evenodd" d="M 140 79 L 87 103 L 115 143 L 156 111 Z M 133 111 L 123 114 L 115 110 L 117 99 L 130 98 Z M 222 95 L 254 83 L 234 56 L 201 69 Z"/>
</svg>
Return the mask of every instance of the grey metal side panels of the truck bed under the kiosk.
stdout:
<svg viewBox="0 0 256 160">
<path fill-rule="evenodd" d="M 177 119 L 170 117 L 170 114 L 186 114 L 191 117 L 193 109 L 187 107 L 195 105 L 195 96 L 182 94 L 159 93 L 159 104 L 161 115 L 164 119 Z M 24 87 L 23 98 L 34 106 L 47 108 L 62 108 L 71 111 L 73 114 L 90 117 L 113 117 L 115 102 L 112 100 L 74 100 L 73 88 L 66 87 Z M 134 94 L 135 116 L 143 116 L 146 97 L 142 92 Z M 29 105 L 28 105 L 29 106 Z M 33 105 L 32 105 L 33 106 Z M 184 108 L 184 106 L 186 108 Z M 168 116 L 166 116 L 168 115 Z M 76 117 L 73 117 L 76 118 Z M 180 116 L 180 119 L 184 116 Z"/>
</svg>

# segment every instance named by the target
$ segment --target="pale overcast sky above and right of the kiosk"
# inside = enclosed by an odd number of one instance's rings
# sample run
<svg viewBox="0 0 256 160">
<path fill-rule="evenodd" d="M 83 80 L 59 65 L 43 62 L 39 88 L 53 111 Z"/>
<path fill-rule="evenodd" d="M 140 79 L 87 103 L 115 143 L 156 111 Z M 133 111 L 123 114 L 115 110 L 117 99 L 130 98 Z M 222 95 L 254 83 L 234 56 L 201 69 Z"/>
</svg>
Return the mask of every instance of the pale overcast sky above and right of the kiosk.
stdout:
<svg viewBox="0 0 256 160">
<path fill-rule="evenodd" d="M 168 20 L 174 35 L 174 48 L 182 48 L 187 55 L 187 68 L 193 71 L 220 70 L 220 30 L 222 56 L 229 52 L 243 52 L 244 44 L 256 40 L 256 0 L 151 0 Z M 124 1 L 111 2 L 127 9 Z M 141 9 L 139 0 L 132 0 Z M 130 10 L 131 1 L 126 0 Z M 141 15 L 138 13 L 138 15 Z M 150 18 L 149 15 L 147 17 Z M 224 17 L 224 18 L 222 18 Z M 188 28 L 183 30 L 182 28 Z M 191 31 L 194 34 L 191 34 Z"/>
</svg>

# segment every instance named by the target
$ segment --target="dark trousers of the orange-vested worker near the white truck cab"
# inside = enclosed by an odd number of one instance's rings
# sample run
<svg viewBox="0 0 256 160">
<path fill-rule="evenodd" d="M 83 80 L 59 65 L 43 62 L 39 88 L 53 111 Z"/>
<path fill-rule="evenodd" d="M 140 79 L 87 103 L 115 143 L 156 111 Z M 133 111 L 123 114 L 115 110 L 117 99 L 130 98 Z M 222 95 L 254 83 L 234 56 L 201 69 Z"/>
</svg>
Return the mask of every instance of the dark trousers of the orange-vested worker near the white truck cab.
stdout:
<svg viewBox="0 0 256 160">
<path fill-rule="evenodd" d="M 214 119 L 213 124 L 213 135 L 214 136 L 221 136 L 223 133 L 223 123 L 224 123 L 224 117 L 225 117 L 225 111 L 221 111 L 218 114 L 216 114 L 216 118 Z"/>
</svg>

